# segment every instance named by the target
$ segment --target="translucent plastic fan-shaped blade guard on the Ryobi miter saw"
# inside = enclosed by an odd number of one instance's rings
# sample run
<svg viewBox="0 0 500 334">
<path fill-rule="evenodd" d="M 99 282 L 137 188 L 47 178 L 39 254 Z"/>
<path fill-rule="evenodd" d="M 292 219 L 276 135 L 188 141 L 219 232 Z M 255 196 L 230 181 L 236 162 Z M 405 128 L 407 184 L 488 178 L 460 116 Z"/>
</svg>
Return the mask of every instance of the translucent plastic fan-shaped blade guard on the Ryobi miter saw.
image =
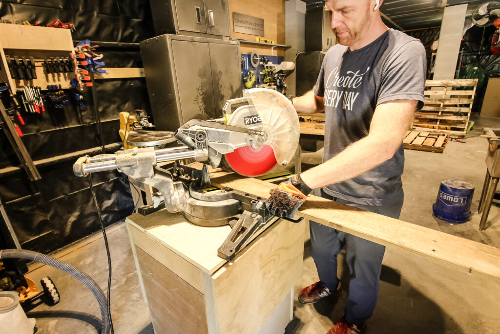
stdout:
<svg viewBox="0 0 500 334">
<path fill-rule="evenodd" d="M 267 88 L 244 91 L 248 103 L 253 105 L 266 133 L 264 145 L 272 148 L 276 162 L 286 166 L 293 159 L 300 136 L 300 125 L 295 108 L 284 95 Z"/>
</svg>

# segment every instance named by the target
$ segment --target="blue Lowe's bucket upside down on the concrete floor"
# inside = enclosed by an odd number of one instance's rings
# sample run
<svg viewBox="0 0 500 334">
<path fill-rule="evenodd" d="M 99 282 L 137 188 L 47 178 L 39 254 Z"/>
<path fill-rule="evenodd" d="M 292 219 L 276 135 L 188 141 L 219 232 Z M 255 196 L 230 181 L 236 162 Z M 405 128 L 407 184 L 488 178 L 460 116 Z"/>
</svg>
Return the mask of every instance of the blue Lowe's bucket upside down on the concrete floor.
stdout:
<svg viewBox="0 0 500 334">
<path fill-rule="evenodd" d="M 448 223 L 464 223 L 472 213 L 472 195 L 474 185 L 461 180 L 446 179 L 441 181 L 432 213 L 436 218 Z"/>
</svg>

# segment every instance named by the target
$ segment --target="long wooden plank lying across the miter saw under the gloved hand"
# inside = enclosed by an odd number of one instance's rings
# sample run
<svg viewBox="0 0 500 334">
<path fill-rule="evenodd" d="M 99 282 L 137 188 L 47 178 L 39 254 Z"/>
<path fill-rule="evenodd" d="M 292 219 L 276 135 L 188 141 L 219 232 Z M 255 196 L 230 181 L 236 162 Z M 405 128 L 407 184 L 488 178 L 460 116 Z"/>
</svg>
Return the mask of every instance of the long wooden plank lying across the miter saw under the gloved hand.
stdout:
<svg viewBox="0 0 500 334">
<path fill-rule="evenodd" d="M 267 198 L 275 185 L 234 173 L 211 174 L 212 185 Z M 461 272 L 500 280 L 500 249 L 309 195 L 297 215 Z"/>
</svg>

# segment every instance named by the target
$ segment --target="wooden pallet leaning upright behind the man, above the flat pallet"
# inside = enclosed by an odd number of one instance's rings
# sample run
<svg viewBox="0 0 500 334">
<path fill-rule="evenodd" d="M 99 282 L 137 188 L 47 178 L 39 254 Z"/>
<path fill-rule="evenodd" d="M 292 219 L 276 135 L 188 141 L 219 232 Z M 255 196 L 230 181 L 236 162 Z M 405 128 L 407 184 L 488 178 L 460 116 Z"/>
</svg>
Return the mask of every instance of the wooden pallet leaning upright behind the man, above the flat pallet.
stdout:
<svg viewBox="0 0 500 334">
<path fill-rule="evenodd" d="M 477 79 L 426 80 L 425 104 L 412 128 L 464 135 L 469 127 Z"/>
</svg>

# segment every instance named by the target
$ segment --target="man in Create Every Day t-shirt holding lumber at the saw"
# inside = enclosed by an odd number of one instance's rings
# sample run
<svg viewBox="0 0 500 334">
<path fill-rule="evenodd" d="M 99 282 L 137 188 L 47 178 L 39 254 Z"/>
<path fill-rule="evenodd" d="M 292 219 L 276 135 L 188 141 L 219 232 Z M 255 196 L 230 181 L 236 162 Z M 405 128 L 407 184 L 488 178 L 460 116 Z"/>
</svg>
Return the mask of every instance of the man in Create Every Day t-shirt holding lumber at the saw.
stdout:
<svg viewBox="0 0 500 334">
<path fill-rule="evenodd" d="M 325 112 L 324 162 L 290 182 L 305 195 L 315 189 L 324 198 L 398 218 L 402 139 L 423 106 L 426 63 L 418 40 L 383 24 L 382 1 L 326 0 L 339 44 L 326 53 L 314 90 L 293 99 L 299 113 Z M 283 210 L 281 203 L 273 194 L 267 205 L 293 216 L 301 204 Z M 312 221 L 310 235 L 319 282 L 303 288 L 299 301 L 341 295 L 336 256 L 345 247 L 345 314 L 327 334 L 361 332 L 375 308 L 385 247 Z"/>
</svg>

